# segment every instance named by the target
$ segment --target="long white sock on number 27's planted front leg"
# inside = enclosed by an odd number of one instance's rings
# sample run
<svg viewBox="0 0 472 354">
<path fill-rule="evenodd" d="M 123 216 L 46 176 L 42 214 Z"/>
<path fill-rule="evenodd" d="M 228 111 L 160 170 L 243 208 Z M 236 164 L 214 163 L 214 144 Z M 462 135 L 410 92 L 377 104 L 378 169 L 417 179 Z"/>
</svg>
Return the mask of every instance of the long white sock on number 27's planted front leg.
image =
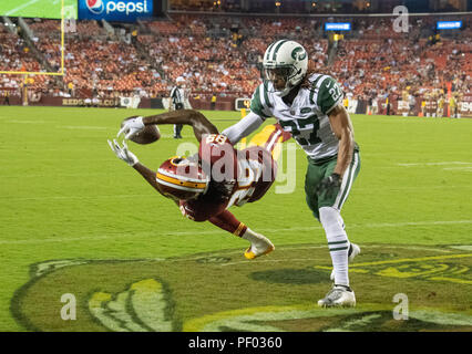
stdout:
<svg viewBox="0 0 472 354">
<path fill-rule="evenodd" d="M 319 209 L 319 218 L 328 240 L 329 254 L 335 270 L 335 284 L 349 287 L 349 239 L 339 210 L 331 207 Z"/>
</svg>

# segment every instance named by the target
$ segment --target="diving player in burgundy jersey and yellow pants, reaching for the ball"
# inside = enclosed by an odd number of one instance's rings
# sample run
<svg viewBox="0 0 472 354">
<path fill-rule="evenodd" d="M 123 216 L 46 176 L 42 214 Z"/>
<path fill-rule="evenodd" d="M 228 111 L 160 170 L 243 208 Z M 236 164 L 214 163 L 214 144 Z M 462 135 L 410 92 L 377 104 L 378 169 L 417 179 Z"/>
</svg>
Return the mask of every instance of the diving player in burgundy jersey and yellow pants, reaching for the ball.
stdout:
<svg viewBox="0 0 472 354">
<path fill-rule="evenodd" d="M 201 143 L 198 154 L 175 156 L 164 162 L 157 171 L 142 165 L 123 142 L 109 140 L 116 156 L 138 171 L 164 197 L 173 199 L 182 214 L 194 221 L 209 221 L 218 228 L 250 242 L 247 259 L 271 252 L 275 247 L 266 237 L 253 231 L 227 209 L 259 200 L 274 184 L 277 173 L 277 144 L 290 138 L 279 125 L 266 126 L 252 142 L 261 142 L 236 150 L 228 138 L 201 113 L 179 110 L 125 122 L 119 132 L 132 137 L 154 124 L 182 124 L 194 129 Z M 252 145 L 252 144 L 249 144 Z"/>
</svg>

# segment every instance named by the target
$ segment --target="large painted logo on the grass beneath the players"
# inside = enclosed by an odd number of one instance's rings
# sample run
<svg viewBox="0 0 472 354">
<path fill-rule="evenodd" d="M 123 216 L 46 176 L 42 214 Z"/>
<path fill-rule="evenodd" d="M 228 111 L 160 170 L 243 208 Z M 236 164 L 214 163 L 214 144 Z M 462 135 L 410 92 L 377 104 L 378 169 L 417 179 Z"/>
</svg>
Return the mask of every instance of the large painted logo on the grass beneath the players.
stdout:
<svg viewBox="0 0 472 354">
<path fill-rule="evenodd" d="M 329 256 L 325 247 L 297 244 L 253 262 L 240 250 L 42 262 L 31 267 L 11 311 L 32 331 L 472 331 L 466 250 L 372 244 L 363 251 L 352 264 L 359 264 L 351 277 L 355 309 L 316 305 L 330 287 L 330 268 L 315 262 L 328 264 Z M 401 311 L 399 289 L 409 298 Z M 64 294 L 73 294 L 73 313 L 70 301 L 63 308 Z"/>
</svg>

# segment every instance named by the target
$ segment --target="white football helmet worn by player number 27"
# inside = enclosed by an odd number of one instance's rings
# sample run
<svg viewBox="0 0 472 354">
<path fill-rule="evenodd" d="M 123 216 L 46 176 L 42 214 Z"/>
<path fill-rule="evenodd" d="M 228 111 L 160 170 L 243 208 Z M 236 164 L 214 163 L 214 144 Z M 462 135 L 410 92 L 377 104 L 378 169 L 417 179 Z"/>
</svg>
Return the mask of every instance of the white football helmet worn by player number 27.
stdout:
<svg viewBox="0 0 472 354">
<path fill-rule="evenodd" d="M 264 54 L 264 79 L 273 82 L 283 79 L 285 87 L 276 90 L 279 96 L 287 95 L 298 85 L 308 70 L 308 54 L 305 48 L 289 40 L 279 40 L 271 43 Z"/>
</svg>

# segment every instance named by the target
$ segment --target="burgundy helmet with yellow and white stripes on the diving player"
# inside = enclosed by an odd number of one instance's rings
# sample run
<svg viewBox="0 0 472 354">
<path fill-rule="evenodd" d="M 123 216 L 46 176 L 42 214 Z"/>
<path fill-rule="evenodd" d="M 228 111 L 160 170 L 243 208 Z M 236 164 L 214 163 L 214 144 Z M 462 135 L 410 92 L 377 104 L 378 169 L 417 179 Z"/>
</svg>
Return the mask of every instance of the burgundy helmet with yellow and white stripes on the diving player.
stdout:
<svg viewBox="0 0 472 354">
<path fill-rule="evenodd" d="M 189 200 L 208 188 L 209 178 L 198 163 L 185 156 L 166 159 L 157 169 L 156 181 L 163 195 L 175 200 Z"/>
</svg>

